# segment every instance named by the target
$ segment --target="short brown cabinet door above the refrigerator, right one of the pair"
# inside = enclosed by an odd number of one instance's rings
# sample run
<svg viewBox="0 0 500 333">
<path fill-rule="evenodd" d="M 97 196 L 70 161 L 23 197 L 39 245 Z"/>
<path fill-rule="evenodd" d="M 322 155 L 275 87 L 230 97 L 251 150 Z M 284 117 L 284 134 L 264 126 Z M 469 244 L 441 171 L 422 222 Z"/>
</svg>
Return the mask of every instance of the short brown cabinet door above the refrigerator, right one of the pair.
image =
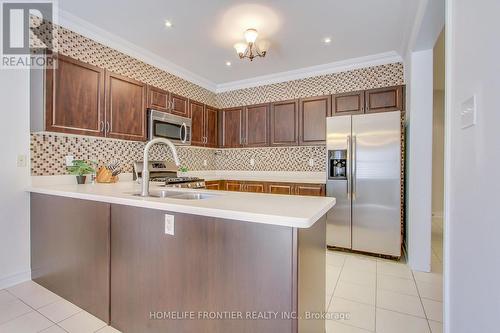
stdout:
<svg viewBox="0 0 500 333">
<path fill-rule="evenodd" d="M 402 86 L 367 90 L 365 99 L 366 113 L 404 110 Z"/>
</svg>

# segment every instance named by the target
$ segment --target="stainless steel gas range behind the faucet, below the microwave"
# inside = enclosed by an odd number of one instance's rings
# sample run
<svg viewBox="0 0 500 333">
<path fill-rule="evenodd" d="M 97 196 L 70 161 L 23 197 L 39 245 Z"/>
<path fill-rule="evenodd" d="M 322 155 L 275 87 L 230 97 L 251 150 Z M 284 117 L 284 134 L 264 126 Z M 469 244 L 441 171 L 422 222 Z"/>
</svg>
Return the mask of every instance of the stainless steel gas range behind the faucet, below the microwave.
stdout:
<svg viewBox="0 0 500 333">
<path fill-rule="evenodd" d="M 140 180 L 142 161 L 134 162 L 134 180 Z M 150 182 L 165 187 L 205 188 L 205 180 L 198 177 L 178 177 L 175 163 L 166 161 L 149 161 Z"/>
</svg>

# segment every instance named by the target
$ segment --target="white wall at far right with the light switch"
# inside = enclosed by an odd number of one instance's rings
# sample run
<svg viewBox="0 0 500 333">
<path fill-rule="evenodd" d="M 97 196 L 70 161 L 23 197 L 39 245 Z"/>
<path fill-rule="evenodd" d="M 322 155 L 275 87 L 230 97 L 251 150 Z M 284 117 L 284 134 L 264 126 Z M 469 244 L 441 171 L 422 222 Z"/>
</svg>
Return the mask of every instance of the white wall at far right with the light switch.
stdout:
<svg viewBox="0 0 500 333">
<path fill-rule="evenodd" d="M 445 321 L 500 327 L 500 1 L 447 0 Z M 477 125 L 460 105 L 477 96 Z"/>
</svg>

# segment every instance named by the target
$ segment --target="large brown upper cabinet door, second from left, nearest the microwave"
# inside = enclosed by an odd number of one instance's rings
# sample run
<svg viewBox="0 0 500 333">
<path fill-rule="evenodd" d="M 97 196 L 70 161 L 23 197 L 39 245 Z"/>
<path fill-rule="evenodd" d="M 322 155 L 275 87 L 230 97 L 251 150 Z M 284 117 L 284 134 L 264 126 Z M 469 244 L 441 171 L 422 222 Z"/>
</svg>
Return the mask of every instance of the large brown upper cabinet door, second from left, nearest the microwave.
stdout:
<svg viewBox="0 0 500 333">
<path fill-rule="evenodd" d="M 146 140 L 146 85 L 106 72 L 106 136 Z"/>
</svg>

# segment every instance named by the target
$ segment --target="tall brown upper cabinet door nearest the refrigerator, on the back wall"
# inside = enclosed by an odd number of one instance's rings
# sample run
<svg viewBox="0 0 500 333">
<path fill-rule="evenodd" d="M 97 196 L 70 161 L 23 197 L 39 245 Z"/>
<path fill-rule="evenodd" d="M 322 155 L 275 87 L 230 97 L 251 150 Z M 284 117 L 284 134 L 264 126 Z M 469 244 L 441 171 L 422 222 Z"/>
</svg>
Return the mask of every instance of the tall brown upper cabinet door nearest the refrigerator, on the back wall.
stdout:
<svg viewBox="0 0 500 333">
<path fill-rule="evenodd" d="M 300 99 L 299 143 L 317 145 L 326 143 L 326 117 L 331 113 L 331 96 Z"/>
</svg>

